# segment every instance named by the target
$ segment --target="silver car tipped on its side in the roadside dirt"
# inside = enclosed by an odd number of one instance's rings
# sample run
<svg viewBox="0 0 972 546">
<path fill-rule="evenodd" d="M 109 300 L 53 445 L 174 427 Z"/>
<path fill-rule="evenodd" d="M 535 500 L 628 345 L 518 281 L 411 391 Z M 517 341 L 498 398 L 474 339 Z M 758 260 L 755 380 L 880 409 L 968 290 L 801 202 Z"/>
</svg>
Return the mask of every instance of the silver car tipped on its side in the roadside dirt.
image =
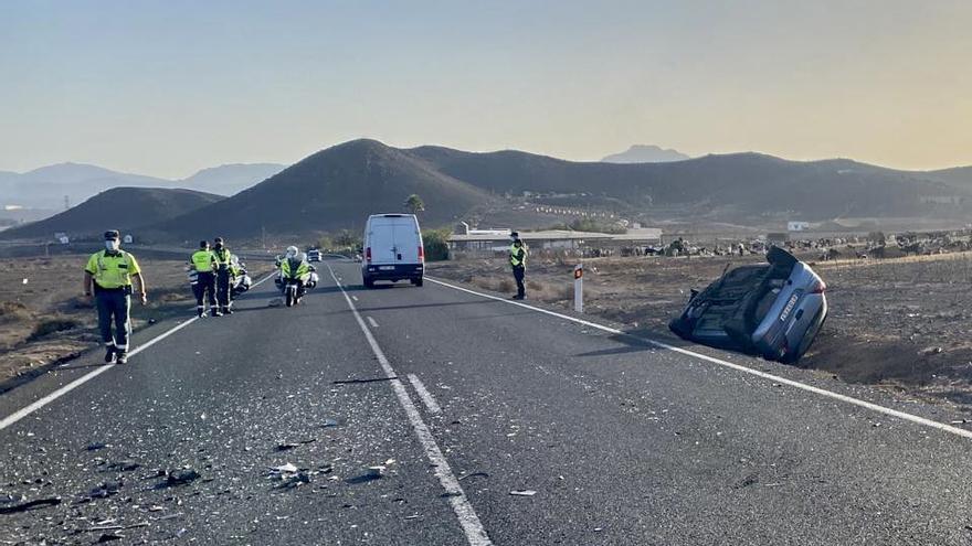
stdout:
<svg viewBox="0 0 972 546">
<path fill-rule="evenodd" d="M 795 363 L 827 318 L 826 283 L 793 255 L 773 247 L 767 265 L 728 270 L 693 290 L 668 328 L 685 340 Z"/>
</svg>

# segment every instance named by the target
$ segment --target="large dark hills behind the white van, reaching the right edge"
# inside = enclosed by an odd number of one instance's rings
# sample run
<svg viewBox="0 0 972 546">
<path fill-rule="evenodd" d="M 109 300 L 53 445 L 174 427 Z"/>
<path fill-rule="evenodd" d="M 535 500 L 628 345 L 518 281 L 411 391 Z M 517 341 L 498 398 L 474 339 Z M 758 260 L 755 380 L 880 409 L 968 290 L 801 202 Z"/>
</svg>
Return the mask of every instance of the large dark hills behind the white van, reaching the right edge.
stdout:
<svg viewBox="0 0 972 546">
<path fill-rule="evenodd" d="M 205 235 L 237 240 L 263 234 L 292 237 L 358 231 L 369 214 L 402 212 L 413 193 L 425 202 L 420 218 L 426 227 L 490 218 L 532 227 L 538 224 L 524 218 L 545 203 L 606 208 L 649 222 L 677 218 L 749 226 L 792 218 L 972 218 L 972 168 L 898 171 L 846 159 L 788 161 L 760 153 L 616 164 L 515 150 L 399 149 L 362 139 L 309 156 L 231 197 L 197 200 L 199 206 L 191 211 L 184 204 L 178 205 L 181 210 L 158 210 L 152 222 L 137 227 L 160 242 L 192 240 L 200 228 Z M 158 196 L 147 203 L 156 208 L 175 206 Z M 76 229 L 103 229 L 103 211 L 115 208 L 101 208 L 110 205 L 99 202 L 86 205 L 91 223 L 80 223 Z M 146 211 L 144 217 L 149 216 Z M 65 231 L 60 220 L 50 220 L 38 233 Z M 23 233 L 17 229 L 4 237 Z"/>
</svg>

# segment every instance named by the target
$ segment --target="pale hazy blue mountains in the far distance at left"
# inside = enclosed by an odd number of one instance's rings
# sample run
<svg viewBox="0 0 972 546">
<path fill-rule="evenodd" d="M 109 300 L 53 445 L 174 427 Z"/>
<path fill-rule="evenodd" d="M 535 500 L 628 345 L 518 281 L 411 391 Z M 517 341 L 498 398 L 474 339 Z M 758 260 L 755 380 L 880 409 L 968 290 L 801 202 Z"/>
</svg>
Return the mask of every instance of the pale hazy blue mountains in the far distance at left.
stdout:
<svg viewBox="0 0 972 546">
<path fill-rule="evenodd" d="M 166 180 L 116 172 L 83 163 L 59 163 L 25 173 L 0 172 L 0 208 L 63 211 L 64 199 L 75 205 L 112 188 L 184 188 L 232 195 L 261 182 L 285 165 L 272 163 L 229 164 L 203 169 L 183 180 Z"/>
</svg>

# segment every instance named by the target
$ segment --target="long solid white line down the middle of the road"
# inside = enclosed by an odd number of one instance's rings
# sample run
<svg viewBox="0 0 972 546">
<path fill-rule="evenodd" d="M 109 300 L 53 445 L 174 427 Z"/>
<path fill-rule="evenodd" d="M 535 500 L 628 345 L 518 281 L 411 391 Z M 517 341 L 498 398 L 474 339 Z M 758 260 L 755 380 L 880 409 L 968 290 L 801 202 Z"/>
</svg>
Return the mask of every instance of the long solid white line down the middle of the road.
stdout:
<svg viewBox="0 0 972 546">
<path fill-rule="evenodd" d="M 327 268 L 330 269 L 330 276 L 334 278 L 335 282 L 337 282 L 338 278 L 335 276 L 334 269 L 330 265 L 328 265 Z M 391 384 L 395 396 L 399 398 L 399 403 L 405 410 L 405 415 L 409 417 L 409 422 L 411 422 L 412 429 L 415 430 L 415 435 L 419 437 L 419 442 L 422 443 L 422 448 L 425 450 L 425 457 L 429 458 L 429 462 L 431 462 L 432 467 L 435 469 L 433 472 L 435 473 L 435 477 L 439 478 L 439 483 L 442 484 L 442 489 L 444 489 L 448 495 L 448 502 L 452 504 L 452 510 L 455 512 L 459 525 L 466 534 L 466 539 L 469 542 L 471 546 L 492 545 L 493 542 L 489 539 L 489 535 L 486 534 L 486 529 L 479 522 L 479 516 L 476 515 L 476 511 L 469 503 L 469 499 L 466 497 L 466 492 L 463 491 L 458 480 L 456 480 L 455 474 L 452 472 L 452 468 L 448 465 L 448 461 L 445 460 L 442 450 L 439 449 L 435 438 L 432 437 L 432 432 L 429 430 L 425 421 L 422 420 L 422 415 L 419 414 L 415 403 L 412 402 L 412 397 L 409 396 L 409 392 L 405 390 L 405 385 L 398 379 L 398 374 L 394 368 L 391 367 L 391 363 L 389 363 L 388 358 L 384 356 L 384 353 L 381 351 L 381 347 L 378 345 L 371 331 L 364 325 L 364 321 L 361 319 L 361 314 L 358 312 L 358 308 L 355 307 L 351 298 L 348 297 L 348 292 L 346 292 L 340 285 L 338 285 L 338 287 L 345 296 L 348 307 L 351 308 L 351 313 L 353 313 L 355 320 L 358 321 L 358 325 L 361 326 L 361 331 L 364 332 L 364 339 L 367 339 L 368 344 L 371 345 L 371 351 L 381 364 L 384 375 L 391 379 L 389 383 Z"/>
</svg>

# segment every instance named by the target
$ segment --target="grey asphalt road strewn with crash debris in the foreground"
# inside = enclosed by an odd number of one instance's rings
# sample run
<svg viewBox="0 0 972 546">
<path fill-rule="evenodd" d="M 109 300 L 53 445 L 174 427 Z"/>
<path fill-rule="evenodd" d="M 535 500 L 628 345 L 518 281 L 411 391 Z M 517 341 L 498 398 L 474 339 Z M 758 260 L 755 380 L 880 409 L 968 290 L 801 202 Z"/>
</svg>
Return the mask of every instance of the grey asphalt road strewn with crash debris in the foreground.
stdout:
<svg viewBox="0 0 972 546">
<path fill-rule="evenodd" d="M 329 266 L 0 397 L 0 544 L 972 544 L 941 408 Z"/>
</svg>

